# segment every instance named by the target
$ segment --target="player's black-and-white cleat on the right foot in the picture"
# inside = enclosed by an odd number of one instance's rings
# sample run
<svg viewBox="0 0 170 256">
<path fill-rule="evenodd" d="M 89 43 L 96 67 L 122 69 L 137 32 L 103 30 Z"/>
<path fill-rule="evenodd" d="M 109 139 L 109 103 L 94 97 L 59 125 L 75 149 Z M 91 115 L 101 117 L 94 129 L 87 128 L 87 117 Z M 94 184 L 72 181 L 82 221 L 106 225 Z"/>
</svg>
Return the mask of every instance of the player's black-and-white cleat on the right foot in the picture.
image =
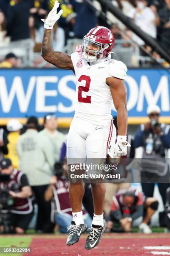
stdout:
<svg viewBox="0 0 170 256">
<path fill-rule="evenodd" d="M 100 242 L 103 232 L 105 231 L 106 225 L 107 223 L 104 220 L 103 226 L 92 225 L 92 227 L 89 228 L 91 229 L 90 234 L 87 236 L 87 240 L 85 242 L 85 248 L 87 250 L 90 250 L 97 246 L 97 244 Z"/>
</svg>

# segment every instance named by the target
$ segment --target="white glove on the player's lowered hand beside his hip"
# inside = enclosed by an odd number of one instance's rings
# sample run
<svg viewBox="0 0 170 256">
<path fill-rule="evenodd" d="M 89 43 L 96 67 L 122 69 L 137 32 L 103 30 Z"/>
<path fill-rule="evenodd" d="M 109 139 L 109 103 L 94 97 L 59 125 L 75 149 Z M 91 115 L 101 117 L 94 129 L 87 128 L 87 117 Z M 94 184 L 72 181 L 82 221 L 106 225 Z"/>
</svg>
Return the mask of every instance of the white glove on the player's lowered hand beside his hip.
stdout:
<svg viewBox="0 0 170 256">
<path fill-rule="evenodd" d="M 127 155 L 127 146 L 131 147 L 131 145 L 126 141 L 126 139 L 126 136 L 117 135 L 117 142 L 115 143 L 115 145 L 110 145 L 108 149 L 108 154 L 110 157 L 118 158 L 120 156 Z M 125 145 L 123 145 L 122 143 L 125 143 Z"/>
</svg>

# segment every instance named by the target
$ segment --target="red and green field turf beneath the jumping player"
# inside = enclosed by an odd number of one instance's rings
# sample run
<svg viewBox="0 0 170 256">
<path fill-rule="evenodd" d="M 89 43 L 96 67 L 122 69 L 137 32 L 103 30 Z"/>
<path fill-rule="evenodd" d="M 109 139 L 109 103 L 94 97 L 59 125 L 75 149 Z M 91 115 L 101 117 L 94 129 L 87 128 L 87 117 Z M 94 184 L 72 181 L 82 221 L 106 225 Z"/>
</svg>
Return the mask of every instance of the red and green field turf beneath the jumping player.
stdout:
<svg viewBox="0 0 170 256">
<path fill-rule="evenodd" d="M 157 231 L 157 230 L 153 230 Z M 158 231 L 157 231 L 158 232 Z M 87 256 L 87 255 L 114 255 L 114 256 L 153 256 L 170 255 L 170 233 L 105 233 L 99 245 L 92 250 L 85 250 L 84 244 L 87 234 L 80 237 L 78 243 L 66 246 L 67 235 L 36 235 L 23 236 L 0 235 L 0 247 L 30 247 L 30 253 L 0 254 L 8 256 Z"/>
</svg>

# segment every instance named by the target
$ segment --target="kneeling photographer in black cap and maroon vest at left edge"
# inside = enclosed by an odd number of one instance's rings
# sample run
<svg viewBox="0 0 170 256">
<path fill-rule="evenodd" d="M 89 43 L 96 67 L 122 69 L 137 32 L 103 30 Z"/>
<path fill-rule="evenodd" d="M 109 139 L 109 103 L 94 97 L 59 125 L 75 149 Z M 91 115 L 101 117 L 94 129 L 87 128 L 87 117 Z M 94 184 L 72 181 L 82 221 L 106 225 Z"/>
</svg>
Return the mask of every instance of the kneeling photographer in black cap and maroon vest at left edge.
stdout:
<svg viewBox="0 0 170 256">
<path fill-rule="evenodd" d="M 26 175 L 14 169 L 10 159 L 0 160 L 0 211 L 7 215 L 1 218 L 2 232 L 7 233 L 9 225 L 9 232 L 25 233 L 34 214 L 31 196 Z"/>
</svg>

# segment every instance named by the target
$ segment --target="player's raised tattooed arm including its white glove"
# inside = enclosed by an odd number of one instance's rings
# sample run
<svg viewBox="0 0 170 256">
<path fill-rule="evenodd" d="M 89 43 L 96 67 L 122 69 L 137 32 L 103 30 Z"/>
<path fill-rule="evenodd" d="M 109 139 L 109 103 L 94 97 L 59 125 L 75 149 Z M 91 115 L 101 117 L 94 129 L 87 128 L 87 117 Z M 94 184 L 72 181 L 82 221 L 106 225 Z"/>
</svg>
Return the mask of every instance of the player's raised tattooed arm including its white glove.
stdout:
<svg viewBox="0 0 170 256">
<path fill-rule="evenodd" d="M 60 18 L 63 13 L 63 10 L 60 10 L 57 13 L 57 8 L 59 3 L 55 1 L 54 7 L 47 16 L 47 19 L 42 21 L 44 22 L 44 36 L 42 40 L 42 57 L 49 63 L 55 65 L 60 69 L 71 69 L 74 71 L 72 64 L 71 56 L 65 54 L 64 52 L 54 51 L 52 46 L 52 36 L 51 31 L 55 22 Z"/>
</svg>

